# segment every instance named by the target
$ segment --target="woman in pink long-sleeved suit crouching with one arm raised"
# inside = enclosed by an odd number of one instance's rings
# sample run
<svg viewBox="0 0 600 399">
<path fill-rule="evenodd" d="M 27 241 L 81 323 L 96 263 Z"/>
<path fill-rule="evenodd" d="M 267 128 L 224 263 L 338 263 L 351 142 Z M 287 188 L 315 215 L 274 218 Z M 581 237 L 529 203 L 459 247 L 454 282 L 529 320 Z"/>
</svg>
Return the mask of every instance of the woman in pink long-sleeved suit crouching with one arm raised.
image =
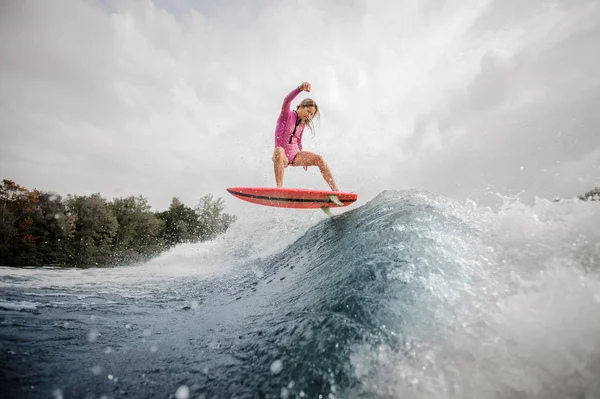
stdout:
<svg viewBox="0 0 600 399">
<path fill-rule="evenodd" d="M 304 170 L 309 166 L 318 166 L 331 190 L 339 191 L 323 157 L 302 150 L 304 127 L 308 125 L 313 130 L 312 120 L 315 116 L 320 115 L 319 107 L 310 98 L 302 100 L 295 111 L 290 109 L 292 100 L 302 91 L 310 92 L 310 83 L 302 83 L 285 97 L 281 113 L 277 119 L 275 151 L 273 152 L 275 182 L 277 187 L 283 186 L 283 172 L 288 165 L 303 166 Z"/>
</svg>

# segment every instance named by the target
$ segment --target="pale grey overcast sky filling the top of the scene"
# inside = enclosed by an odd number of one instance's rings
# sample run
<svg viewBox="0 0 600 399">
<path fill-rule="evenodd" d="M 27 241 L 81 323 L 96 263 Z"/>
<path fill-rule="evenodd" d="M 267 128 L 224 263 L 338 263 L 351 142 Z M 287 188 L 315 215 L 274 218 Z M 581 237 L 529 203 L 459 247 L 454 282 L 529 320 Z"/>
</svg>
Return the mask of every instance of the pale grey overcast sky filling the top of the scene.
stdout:
<svg viewBox="0 0 600 399">
<path fill-rule="evenodd" d="M 283 98 L 304 149 L 364 203 L 427 190 L 493 205 L 600 185 L 597 0 L 9 0 L 0 178 L 108 199 L 256 205 Z M 327 189 L 318 169 L 284 185 Z"/>
</svg>

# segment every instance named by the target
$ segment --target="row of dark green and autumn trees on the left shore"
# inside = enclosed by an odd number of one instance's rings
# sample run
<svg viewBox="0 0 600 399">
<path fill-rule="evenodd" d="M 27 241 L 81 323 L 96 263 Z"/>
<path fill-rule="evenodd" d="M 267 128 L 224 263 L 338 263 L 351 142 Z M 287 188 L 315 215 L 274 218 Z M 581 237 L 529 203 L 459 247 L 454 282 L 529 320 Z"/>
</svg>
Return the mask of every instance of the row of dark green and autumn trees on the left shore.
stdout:
<svg viewBox="0 0 600 399">
<path fill-rule="evenodd" d="M 142 261 L 173 245 L 214 239 L 236 217 L 222 198 L 206 195 L 195 208 L 174 197 L 153 212 L 142 196 L 108 201 L 0 185 L 0 265 L 110 266 Z"/>
</svg>

